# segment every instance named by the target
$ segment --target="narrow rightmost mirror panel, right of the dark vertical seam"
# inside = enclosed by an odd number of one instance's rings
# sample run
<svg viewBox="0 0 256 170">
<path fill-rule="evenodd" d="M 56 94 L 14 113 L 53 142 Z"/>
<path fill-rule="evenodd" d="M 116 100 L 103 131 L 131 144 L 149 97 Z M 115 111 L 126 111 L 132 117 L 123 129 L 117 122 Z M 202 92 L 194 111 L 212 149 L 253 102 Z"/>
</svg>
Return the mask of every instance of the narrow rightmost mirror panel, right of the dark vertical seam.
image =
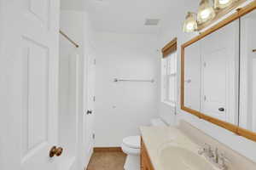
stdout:
<svg viewBox="0 0 256 170">
<path fill-rule="evenodd" d="M 256 132 L 256 11 L 241 17 L 239 126 Z"/>
</svg>

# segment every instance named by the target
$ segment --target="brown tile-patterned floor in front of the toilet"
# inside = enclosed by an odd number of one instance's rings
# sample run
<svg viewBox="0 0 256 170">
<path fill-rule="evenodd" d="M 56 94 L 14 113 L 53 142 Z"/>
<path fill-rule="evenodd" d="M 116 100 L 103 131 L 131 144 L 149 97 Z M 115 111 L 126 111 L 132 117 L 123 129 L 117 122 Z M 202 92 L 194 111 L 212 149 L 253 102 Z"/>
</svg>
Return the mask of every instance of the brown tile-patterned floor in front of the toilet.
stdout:
<svg viewBox="0 0 256 170">
<path fill-rule="evenodd" d="M 87 170 L 124 170 L 123 152 L 96 152 L 90 158 Z"/>
</svg>

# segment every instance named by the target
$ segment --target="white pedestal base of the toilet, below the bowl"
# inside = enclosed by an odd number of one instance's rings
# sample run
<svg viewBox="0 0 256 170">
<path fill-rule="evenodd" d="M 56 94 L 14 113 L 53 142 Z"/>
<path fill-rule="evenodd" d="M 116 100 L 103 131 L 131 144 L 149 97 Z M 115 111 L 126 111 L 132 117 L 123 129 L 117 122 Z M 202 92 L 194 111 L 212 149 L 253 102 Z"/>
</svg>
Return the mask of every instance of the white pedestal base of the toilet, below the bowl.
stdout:
<svg viewBox="0 0 256 170">
<path fill-rule="evenodd" d="M 140 170 L 140 156 L 128 155 L 125 160 L 125 170 Z"/>
</svg>

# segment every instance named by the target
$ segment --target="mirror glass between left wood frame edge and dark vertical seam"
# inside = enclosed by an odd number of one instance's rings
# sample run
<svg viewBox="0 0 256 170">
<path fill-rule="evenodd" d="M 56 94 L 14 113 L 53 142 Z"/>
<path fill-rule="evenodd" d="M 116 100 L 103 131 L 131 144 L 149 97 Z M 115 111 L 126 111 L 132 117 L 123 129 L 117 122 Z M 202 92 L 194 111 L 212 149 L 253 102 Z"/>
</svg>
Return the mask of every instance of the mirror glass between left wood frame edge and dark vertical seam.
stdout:
<svg viewBox="0 0 256 170">
<path fill-rule="evenodd" d="M 238 123 L 239 21 L 184 49 L 184 106 Z"/>
</svg>

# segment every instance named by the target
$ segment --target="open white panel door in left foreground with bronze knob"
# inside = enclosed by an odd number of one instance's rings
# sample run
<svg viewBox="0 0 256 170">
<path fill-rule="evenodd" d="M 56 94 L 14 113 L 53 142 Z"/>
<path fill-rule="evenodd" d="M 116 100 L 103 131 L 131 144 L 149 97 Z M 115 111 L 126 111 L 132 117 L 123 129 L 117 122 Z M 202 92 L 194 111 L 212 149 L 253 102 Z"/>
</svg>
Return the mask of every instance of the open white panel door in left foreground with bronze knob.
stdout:
<svg viewBox="0 0 256 170">
<path fill-rule="evenodd" d="M 2 0 L 1 6 L 1 66 L 9 79 L 1 86 L 8 105 L 1 107 L 0 169 L 54 170 L 49 150 L 58 137 L 59 0 Z"/>
</svg>

